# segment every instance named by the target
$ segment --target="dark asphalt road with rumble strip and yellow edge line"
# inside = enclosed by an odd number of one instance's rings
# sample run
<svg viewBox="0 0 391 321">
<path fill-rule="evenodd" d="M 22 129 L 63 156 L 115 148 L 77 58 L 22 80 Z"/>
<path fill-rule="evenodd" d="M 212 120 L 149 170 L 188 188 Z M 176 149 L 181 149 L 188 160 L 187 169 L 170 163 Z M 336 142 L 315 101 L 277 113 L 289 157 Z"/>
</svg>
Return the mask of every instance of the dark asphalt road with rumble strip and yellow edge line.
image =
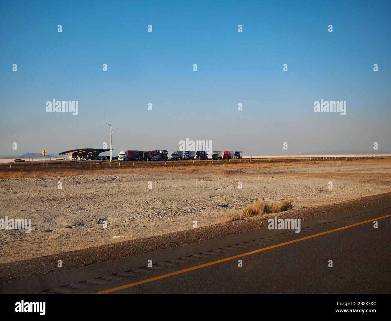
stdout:
<svg viewBox="0 0 391 321">
<path fill-rule="evenodd" d="M 390 293 L 390 212 L 391 202 L 339 212 L 306 219 L 300 233 L 255 230 L 22 279 L 0 292 Z"/>
</svg>

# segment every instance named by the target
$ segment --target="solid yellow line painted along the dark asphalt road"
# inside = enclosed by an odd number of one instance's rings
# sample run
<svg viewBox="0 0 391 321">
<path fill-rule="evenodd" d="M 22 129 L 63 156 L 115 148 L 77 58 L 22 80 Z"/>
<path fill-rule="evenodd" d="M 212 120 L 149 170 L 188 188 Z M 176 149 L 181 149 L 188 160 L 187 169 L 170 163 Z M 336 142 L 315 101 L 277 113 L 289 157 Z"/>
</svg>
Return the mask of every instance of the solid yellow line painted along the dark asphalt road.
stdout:
<svg viewBox="0 0 391 321">
<path fill-rule="evenodd" d="M 225 258 L 225 259 L 221 259 L 221 260 L 217 260 L 217 261 L 213 261 L 213 262 L 209 262 L 209 263 L 205 263 L 205 264 L 201 264 L 201 265 L 196 265 L 195 267 L 185 268 L 183 270 L 179 270 L 179 271 L 163 274 L 163 275 L 156 276 L 156 277 L 151 277 L 150 279 L 145 279 L 145 280 L 142 280 L 142 281 L 129 283 L 129 284 L 126 284 L 126 285 L 121 285 L 120 287 L 115 287 L 115 288 L 110 288 L 108 290 L 95 292 L 94 294 L 105 294 L 105 293 L 110 293 L 110 292 L 114 292 L 114 291 L 118 291 L 118 290 L 123 290 L 123 289 L 130 288 L 130 287 L 135 287 L 136 285 L 140 285 L 140 284 L 143 284 L 143 283 L 148 283 L 148 282 L 164 279 L 164 278 L 169 277 L 169 276 L 173 276 L 173 275 L 189 272 L 189 271 L 192 271 L 192 270 L 197 270 L 197 269 L 203 268 L 203 267 L 209 267 L 210 265 L 214 265 L 214 264 L 230 261 L 230 260 L 233 260 L 233 259 L 241 258 L 243 256 L 259 253 L 259 252 L 262 252 L 262 251 L 265 251 L 265 250 L 270 250 L 271 248 L 281 247 L 281 246 L 284 246 L 284 245 L 288 245 L 288 244 L 304 241 L 305 239 L 316 238 L 317 236 L 321 236 L 321 235 L 325 235 L 325 234 L 328 234 L 328 233 L 332 233 L 332 232 L 348 229 L 350 227 L 354 227 L 354 226 L 357 226 L 357 225 L 373 222 L 373 221 L 376 221 L 378 219 L 387 218 L 389 216 L 391 216 L 391 214 L 388 214 L 388 215 L 385 215 L 385 216 L 380 216 L 380 217 L 374 218 L 374 219 L 368 219 L 368 221 L 363 221 L 363 222 L 360 222 L 360 223 L 355 223 L 355 224 L 352 224 L 352 225 L 339 227 L 338 229 L 329 230 L 329 231 L 326 231 L 326 232 L 321 232 L 321 233 L 318 233 L 318 234 L 306 236 L 304 238 L 294 239 L 292 241 L 288 241 L 288 242 L 272 245 L 272 246 L 269 246 L 269 247 L 260 248 L 258 250 L 254 250 L 254 251 L 251 251 L 251 252 L 247 252 L 247 253 L 243 253 L 243 254 L 239 254 L 239 255 L 235 255 L 235 256 L 230 256 L 229 258 Z"/>
</svg>

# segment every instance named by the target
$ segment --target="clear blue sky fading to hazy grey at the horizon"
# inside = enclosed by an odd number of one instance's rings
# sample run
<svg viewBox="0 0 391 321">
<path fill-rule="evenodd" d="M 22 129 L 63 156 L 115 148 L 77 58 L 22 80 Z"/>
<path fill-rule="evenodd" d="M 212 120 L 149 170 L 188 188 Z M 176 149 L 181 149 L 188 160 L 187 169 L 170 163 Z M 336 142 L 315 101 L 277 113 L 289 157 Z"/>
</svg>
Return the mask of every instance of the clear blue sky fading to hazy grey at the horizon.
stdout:
<svg viewBox="0 0 391 321">
<path fill-rule="evenodd" d="M 390 1 L 3 0 L 0 155 L 102 148 L 101 122 L 114 154 L 186 138 L 246 155 L 391 152 L 390 16 Z M 53 99 L 79 114 L 46 112 Z M 346 115 L 314 112 L 321 99 Z"/>
</svg>

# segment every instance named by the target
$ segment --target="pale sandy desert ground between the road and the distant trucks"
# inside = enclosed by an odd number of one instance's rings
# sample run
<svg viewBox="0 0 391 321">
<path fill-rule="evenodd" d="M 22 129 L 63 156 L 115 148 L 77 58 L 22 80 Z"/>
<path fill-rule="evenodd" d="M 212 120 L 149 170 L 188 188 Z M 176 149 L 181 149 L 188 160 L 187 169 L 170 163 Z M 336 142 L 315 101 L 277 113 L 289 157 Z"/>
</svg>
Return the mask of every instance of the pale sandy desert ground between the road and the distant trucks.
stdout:
<svg viewBox="0 0 391 321">
<path fill-rule="evenodd" d="M 0 263 L 213 225 L 259 199 L 291 199 L 293 217 L 391 191 L 389 159 L 129 171 L 1 179 L 0 218 L 30 218 L 32 231 L 0 230 Z"/>
</svg>

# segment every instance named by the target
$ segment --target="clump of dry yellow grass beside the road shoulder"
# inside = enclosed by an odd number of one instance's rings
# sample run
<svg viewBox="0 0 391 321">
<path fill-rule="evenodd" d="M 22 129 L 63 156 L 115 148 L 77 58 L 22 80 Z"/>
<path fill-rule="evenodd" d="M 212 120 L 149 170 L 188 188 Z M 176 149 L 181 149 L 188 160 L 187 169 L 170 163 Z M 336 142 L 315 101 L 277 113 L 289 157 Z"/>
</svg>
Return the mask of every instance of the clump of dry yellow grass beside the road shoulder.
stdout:
<svg viewBox="0 0 391 321">
<path fill-rule="evenodd" d="M 252 204 L 248 205 L 239 214 L 229 214 L 225 221 L 237 221 L 239 219 L 251 218 L 253 216 L 258 216 L 266 213 L 276 213 L 283 212 L 285 210 L 290 210 L 293 208 L 292 201 L 286 199 L 278 203 L 267 203 L 265 201 L 255 201 Z"/>
</svg>

